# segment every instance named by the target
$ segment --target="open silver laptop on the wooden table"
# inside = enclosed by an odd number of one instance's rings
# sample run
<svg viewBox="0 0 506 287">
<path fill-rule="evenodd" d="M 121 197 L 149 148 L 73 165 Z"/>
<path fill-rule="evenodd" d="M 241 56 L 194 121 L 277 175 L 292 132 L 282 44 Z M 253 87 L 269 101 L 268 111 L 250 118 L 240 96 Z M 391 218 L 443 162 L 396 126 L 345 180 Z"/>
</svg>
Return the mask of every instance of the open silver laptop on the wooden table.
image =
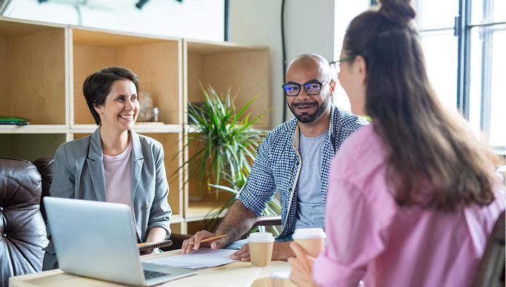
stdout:
<svg viewBox="0 0 506 287">
<path fill-rule="evenodd" d="M 60 269 L 136 286 L 153 286 L 198 271 L 141 262 L 131 209 L 120 203 L 44 197 Z"/>
</svg>

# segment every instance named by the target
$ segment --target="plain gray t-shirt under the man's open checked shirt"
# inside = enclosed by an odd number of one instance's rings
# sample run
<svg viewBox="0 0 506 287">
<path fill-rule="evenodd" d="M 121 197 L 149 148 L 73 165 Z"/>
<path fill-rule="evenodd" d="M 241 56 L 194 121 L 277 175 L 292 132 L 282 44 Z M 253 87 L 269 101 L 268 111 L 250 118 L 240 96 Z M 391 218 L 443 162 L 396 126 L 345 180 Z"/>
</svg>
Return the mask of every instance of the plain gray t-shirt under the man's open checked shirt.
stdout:
<svg viewBox="0 0 506 287">
<path fill-rule="evenodd" d="M 300 132 L 301 171 L 297 182 L 295 229 L 323 228 L 325 205 L 321 195 L 321 164 L 327 132 L 307 137 Z"/>
</svg>

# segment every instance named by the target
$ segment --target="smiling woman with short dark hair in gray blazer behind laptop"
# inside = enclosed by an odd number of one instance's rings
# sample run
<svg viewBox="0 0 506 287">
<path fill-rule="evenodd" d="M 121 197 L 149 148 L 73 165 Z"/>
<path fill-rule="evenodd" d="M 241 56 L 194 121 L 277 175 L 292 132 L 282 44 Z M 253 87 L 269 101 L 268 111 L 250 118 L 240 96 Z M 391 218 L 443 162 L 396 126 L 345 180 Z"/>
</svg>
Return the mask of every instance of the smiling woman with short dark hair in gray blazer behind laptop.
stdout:
<svg viewBox="0 0 506 287">
<path fill-rule="evenodd" d="M 162 144 L 132 129 L 140 109 L 138 88 L 137 75 L 122 67 L 86 78 L 84 97 L 98 129 L 58 148 L 50 193 L 129 205 L 138 241 L 156 242 L 171 232 L 169 184 Z M 53 243 L 45 250 L 43 269 L 57 268 Z"/>
</svg>

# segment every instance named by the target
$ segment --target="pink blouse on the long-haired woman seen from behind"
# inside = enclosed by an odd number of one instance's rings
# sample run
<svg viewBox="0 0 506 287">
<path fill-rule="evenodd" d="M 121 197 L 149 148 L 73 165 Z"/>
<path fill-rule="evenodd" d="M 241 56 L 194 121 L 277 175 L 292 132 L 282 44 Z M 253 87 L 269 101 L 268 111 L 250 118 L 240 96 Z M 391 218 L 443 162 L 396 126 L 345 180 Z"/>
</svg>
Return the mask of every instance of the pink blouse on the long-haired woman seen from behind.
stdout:
<svg viewBox="0 0 506 287">
<path fill-rule="evenodd" d="M 491 205 L 442 212 L 397 205 L 385 180 L 385 152 L 362 127 L 332 161 L 325 250 L 313 265 L 320 286 L 469 286 L 488 234 L 505 210 L 504 189 Z M 420 147 L 423 148 L 423 147 Z"/>
</svg>

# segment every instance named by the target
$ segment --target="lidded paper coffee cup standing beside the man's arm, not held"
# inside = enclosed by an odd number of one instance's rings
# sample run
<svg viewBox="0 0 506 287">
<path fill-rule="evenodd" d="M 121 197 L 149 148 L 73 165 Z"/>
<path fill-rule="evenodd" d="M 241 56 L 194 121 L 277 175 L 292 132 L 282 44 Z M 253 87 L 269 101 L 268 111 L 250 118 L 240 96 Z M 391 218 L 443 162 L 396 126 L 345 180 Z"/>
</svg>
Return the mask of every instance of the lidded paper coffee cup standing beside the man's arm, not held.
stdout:
<svg viewBox="0 0 506 287">
<path fill-rule="evenodd" d="M 271 265 L 274 237 L 270 232 L 249 234 L 248 243 L 252 266 L 266 267 Z"/>
</svg>

